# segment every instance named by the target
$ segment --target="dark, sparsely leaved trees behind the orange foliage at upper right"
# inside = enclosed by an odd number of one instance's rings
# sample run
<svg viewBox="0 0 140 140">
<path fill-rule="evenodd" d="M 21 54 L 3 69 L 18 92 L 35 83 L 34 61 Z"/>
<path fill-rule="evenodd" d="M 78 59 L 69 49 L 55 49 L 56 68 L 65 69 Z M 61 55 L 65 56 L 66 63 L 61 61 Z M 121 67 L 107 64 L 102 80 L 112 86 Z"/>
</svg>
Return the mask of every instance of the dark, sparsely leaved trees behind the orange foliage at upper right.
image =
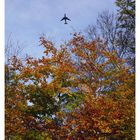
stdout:
<svg viewBox="0 0 140 140">
<path fill-rule="evenodd" d="M 90 40 L 102 38 L 106 48 L 116 50 L 120 58 L 129 59 L 128 65 L 135 64 L 135 2 L 116 1 L 117 14 L 103 11 L 97 18 L 96 25 L 89 26 L 86 30 Z M 130 10 L 133 13 L 131 16 Z"/>
</svg>

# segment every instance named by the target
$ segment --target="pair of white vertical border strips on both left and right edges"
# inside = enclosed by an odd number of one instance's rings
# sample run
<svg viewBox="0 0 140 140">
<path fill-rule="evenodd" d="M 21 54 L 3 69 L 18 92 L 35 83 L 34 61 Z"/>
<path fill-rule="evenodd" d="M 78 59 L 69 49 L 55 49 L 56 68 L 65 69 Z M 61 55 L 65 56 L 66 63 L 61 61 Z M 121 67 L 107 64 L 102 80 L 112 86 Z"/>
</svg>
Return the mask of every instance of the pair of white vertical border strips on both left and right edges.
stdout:
<svg viewBox="0 0 140 140">
<path fill-rule="evenodd" d="M 12 2 L 12 1 L 11 1 Z M 140 86 L 138 85 L 140 82 L 140 31 L 138 31 L 138 26 L 140 26 L 140 0 L 136 0 L 136 139 L 140 139 Z M 5 136 L 5 86 L 4 86 L 4 46 L 5 46 L 5 1 L 0 0 L 0 139 L 4 140 Z"/>
</svg>

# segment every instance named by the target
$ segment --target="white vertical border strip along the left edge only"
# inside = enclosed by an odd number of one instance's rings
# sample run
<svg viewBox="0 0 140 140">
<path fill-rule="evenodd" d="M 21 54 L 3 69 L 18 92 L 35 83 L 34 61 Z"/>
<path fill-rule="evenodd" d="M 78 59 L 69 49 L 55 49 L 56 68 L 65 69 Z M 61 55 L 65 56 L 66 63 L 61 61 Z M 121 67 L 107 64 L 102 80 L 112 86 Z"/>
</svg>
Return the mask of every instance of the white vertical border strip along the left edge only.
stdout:
<svg viewBox="0 0 140 140">
<path fill-rule="evenodd" d="M 5 1 L 0 0 L 0 139 L 4 140 L 5 136 L 5 120 L 4 120 L 4 102 L 5 102 L 5 86 L 4 86 L 4 46 L 5 46 Z"/>
</svg>

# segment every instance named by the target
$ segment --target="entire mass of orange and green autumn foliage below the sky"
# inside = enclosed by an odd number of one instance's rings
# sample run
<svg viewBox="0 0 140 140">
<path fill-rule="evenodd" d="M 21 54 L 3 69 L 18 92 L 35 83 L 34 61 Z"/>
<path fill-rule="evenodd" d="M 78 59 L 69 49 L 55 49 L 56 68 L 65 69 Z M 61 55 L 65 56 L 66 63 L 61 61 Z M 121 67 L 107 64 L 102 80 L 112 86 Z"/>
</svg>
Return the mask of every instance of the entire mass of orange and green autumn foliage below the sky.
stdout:
<svg viewBox="0 0 140 140">
<path fill-rule="evenodd" d="M 6 66 L 6 139 L 134 139 L 134 70 L 102 39 L 74 34 Z"/>
</svg>

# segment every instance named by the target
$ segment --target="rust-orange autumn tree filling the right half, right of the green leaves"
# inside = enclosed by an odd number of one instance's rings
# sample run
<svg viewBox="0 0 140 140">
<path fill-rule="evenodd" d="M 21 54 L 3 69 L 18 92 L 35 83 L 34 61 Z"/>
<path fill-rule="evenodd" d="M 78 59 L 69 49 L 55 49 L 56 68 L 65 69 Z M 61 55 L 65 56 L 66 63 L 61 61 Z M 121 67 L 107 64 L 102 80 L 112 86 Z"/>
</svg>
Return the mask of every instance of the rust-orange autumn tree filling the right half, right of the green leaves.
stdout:
<svg viewBox="0 0 140 140">
<path fill-rule="evenodd" d="M 109 52 L 102 41 L 86 42 L 74 35 L 70 44 L 78 57 L 79 89 L 85 98 L 66 114 L 58 131 L 65 132 L 61 139 L 134 139 L 135 77 L 126 60 Z"/>
</svg>

